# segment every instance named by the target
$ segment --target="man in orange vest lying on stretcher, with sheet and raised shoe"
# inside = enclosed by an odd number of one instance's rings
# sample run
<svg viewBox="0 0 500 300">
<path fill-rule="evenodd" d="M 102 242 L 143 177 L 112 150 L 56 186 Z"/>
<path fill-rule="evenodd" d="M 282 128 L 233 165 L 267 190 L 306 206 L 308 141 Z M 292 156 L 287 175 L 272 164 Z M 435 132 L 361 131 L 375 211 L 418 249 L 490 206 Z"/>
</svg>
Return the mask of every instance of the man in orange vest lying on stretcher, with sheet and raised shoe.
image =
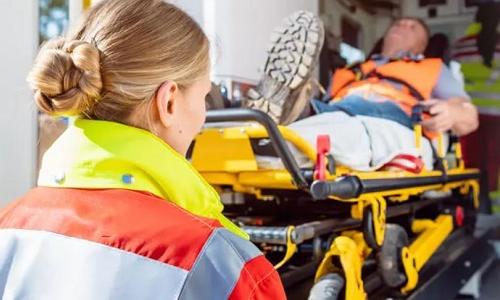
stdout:
<svg viewBox="0 0 500 300">
<path fill-rule="evenodd" d="M 309 24 L 307 33 L 290 33 L 304 22 Z M 460 136 L 477 128 L 477 110 L 462 86 L 440 59 L 423 57 L 429 30 L 421 20 L 395 21 L 380 54 L 337 70 L 327 102 L 310 101 L 324 37 L 321 21 L 292 16 L 287 24 L 276 32 L 279 38 L 274 37 L 263 78 L 244 105 L 266 112 L 312 145 L 318 135 L 329 135 L 338 164 L 377 170 L 409 154 L 432 169 L 430 141 L 437 134 Z M 426 108 L 423 120 L 414 118 L 416 107 Z M 416 122 L 427 137 L 420 151 L 415 147 Z M 292 152 L 299 162 L 304 160 L 299 151 Z"/>
</svg>

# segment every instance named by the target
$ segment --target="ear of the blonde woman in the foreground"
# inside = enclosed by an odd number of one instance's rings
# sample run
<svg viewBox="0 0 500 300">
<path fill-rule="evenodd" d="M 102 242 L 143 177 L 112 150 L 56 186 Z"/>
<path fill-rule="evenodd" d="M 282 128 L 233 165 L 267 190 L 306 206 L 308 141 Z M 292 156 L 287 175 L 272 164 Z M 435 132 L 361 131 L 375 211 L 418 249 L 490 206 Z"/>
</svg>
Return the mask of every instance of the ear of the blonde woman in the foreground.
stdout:
<svg viewBox="0 0 500 300">
<path fill-rule="evenodd" d="M 179 86 L 173 81 L 165 81 L 158 89 L 158 92 L 156 92 L 155 102 L 160 122 L 166 128 L 172 126 L 174 122 L 174 112 L 178 96 Z"/>
</svg>

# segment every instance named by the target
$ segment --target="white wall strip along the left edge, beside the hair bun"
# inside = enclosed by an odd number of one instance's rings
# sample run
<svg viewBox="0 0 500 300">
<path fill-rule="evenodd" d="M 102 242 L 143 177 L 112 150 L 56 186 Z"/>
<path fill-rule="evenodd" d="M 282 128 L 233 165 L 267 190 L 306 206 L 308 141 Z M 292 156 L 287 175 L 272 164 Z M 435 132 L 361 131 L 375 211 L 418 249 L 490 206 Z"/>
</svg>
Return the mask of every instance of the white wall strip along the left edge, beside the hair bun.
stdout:
<svg viewBox="0 0 500 300">
<path fill-rule="evenodd" d="M 35 181 L 36 109 L 26 83 L 38 47 L 38 1 L 0 1 L 0 206 Z"/>
</svg>

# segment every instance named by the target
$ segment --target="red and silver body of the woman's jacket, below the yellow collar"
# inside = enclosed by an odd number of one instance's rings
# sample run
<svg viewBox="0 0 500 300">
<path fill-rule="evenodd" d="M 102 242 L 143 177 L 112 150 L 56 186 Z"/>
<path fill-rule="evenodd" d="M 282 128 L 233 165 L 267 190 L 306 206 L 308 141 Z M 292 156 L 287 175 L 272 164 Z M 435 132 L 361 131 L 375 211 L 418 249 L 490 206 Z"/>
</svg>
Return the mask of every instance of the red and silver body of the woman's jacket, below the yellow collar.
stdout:
<svg viewBox="0 0 500 300">
<path fill-rule="evenodd" d="M 32 190 L 0 211 L 0 270 L 8 299 L 285 299 L 251 242 L 130 190 Z"/>
</svg>

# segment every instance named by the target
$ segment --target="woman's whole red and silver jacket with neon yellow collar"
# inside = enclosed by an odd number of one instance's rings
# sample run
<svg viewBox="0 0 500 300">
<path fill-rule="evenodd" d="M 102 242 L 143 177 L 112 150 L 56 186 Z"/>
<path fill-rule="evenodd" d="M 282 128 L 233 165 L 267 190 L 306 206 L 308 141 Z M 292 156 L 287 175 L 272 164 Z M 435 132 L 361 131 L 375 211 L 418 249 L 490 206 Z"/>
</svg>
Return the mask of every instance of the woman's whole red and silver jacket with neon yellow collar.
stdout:
<svg viewBox="0 0 500 300">
<path fill-rule="evenodd" d="M 284 299 L 217 193 L 152 134 L 77 120 L 0 211 L 2 299 Z"/>
</svg>

